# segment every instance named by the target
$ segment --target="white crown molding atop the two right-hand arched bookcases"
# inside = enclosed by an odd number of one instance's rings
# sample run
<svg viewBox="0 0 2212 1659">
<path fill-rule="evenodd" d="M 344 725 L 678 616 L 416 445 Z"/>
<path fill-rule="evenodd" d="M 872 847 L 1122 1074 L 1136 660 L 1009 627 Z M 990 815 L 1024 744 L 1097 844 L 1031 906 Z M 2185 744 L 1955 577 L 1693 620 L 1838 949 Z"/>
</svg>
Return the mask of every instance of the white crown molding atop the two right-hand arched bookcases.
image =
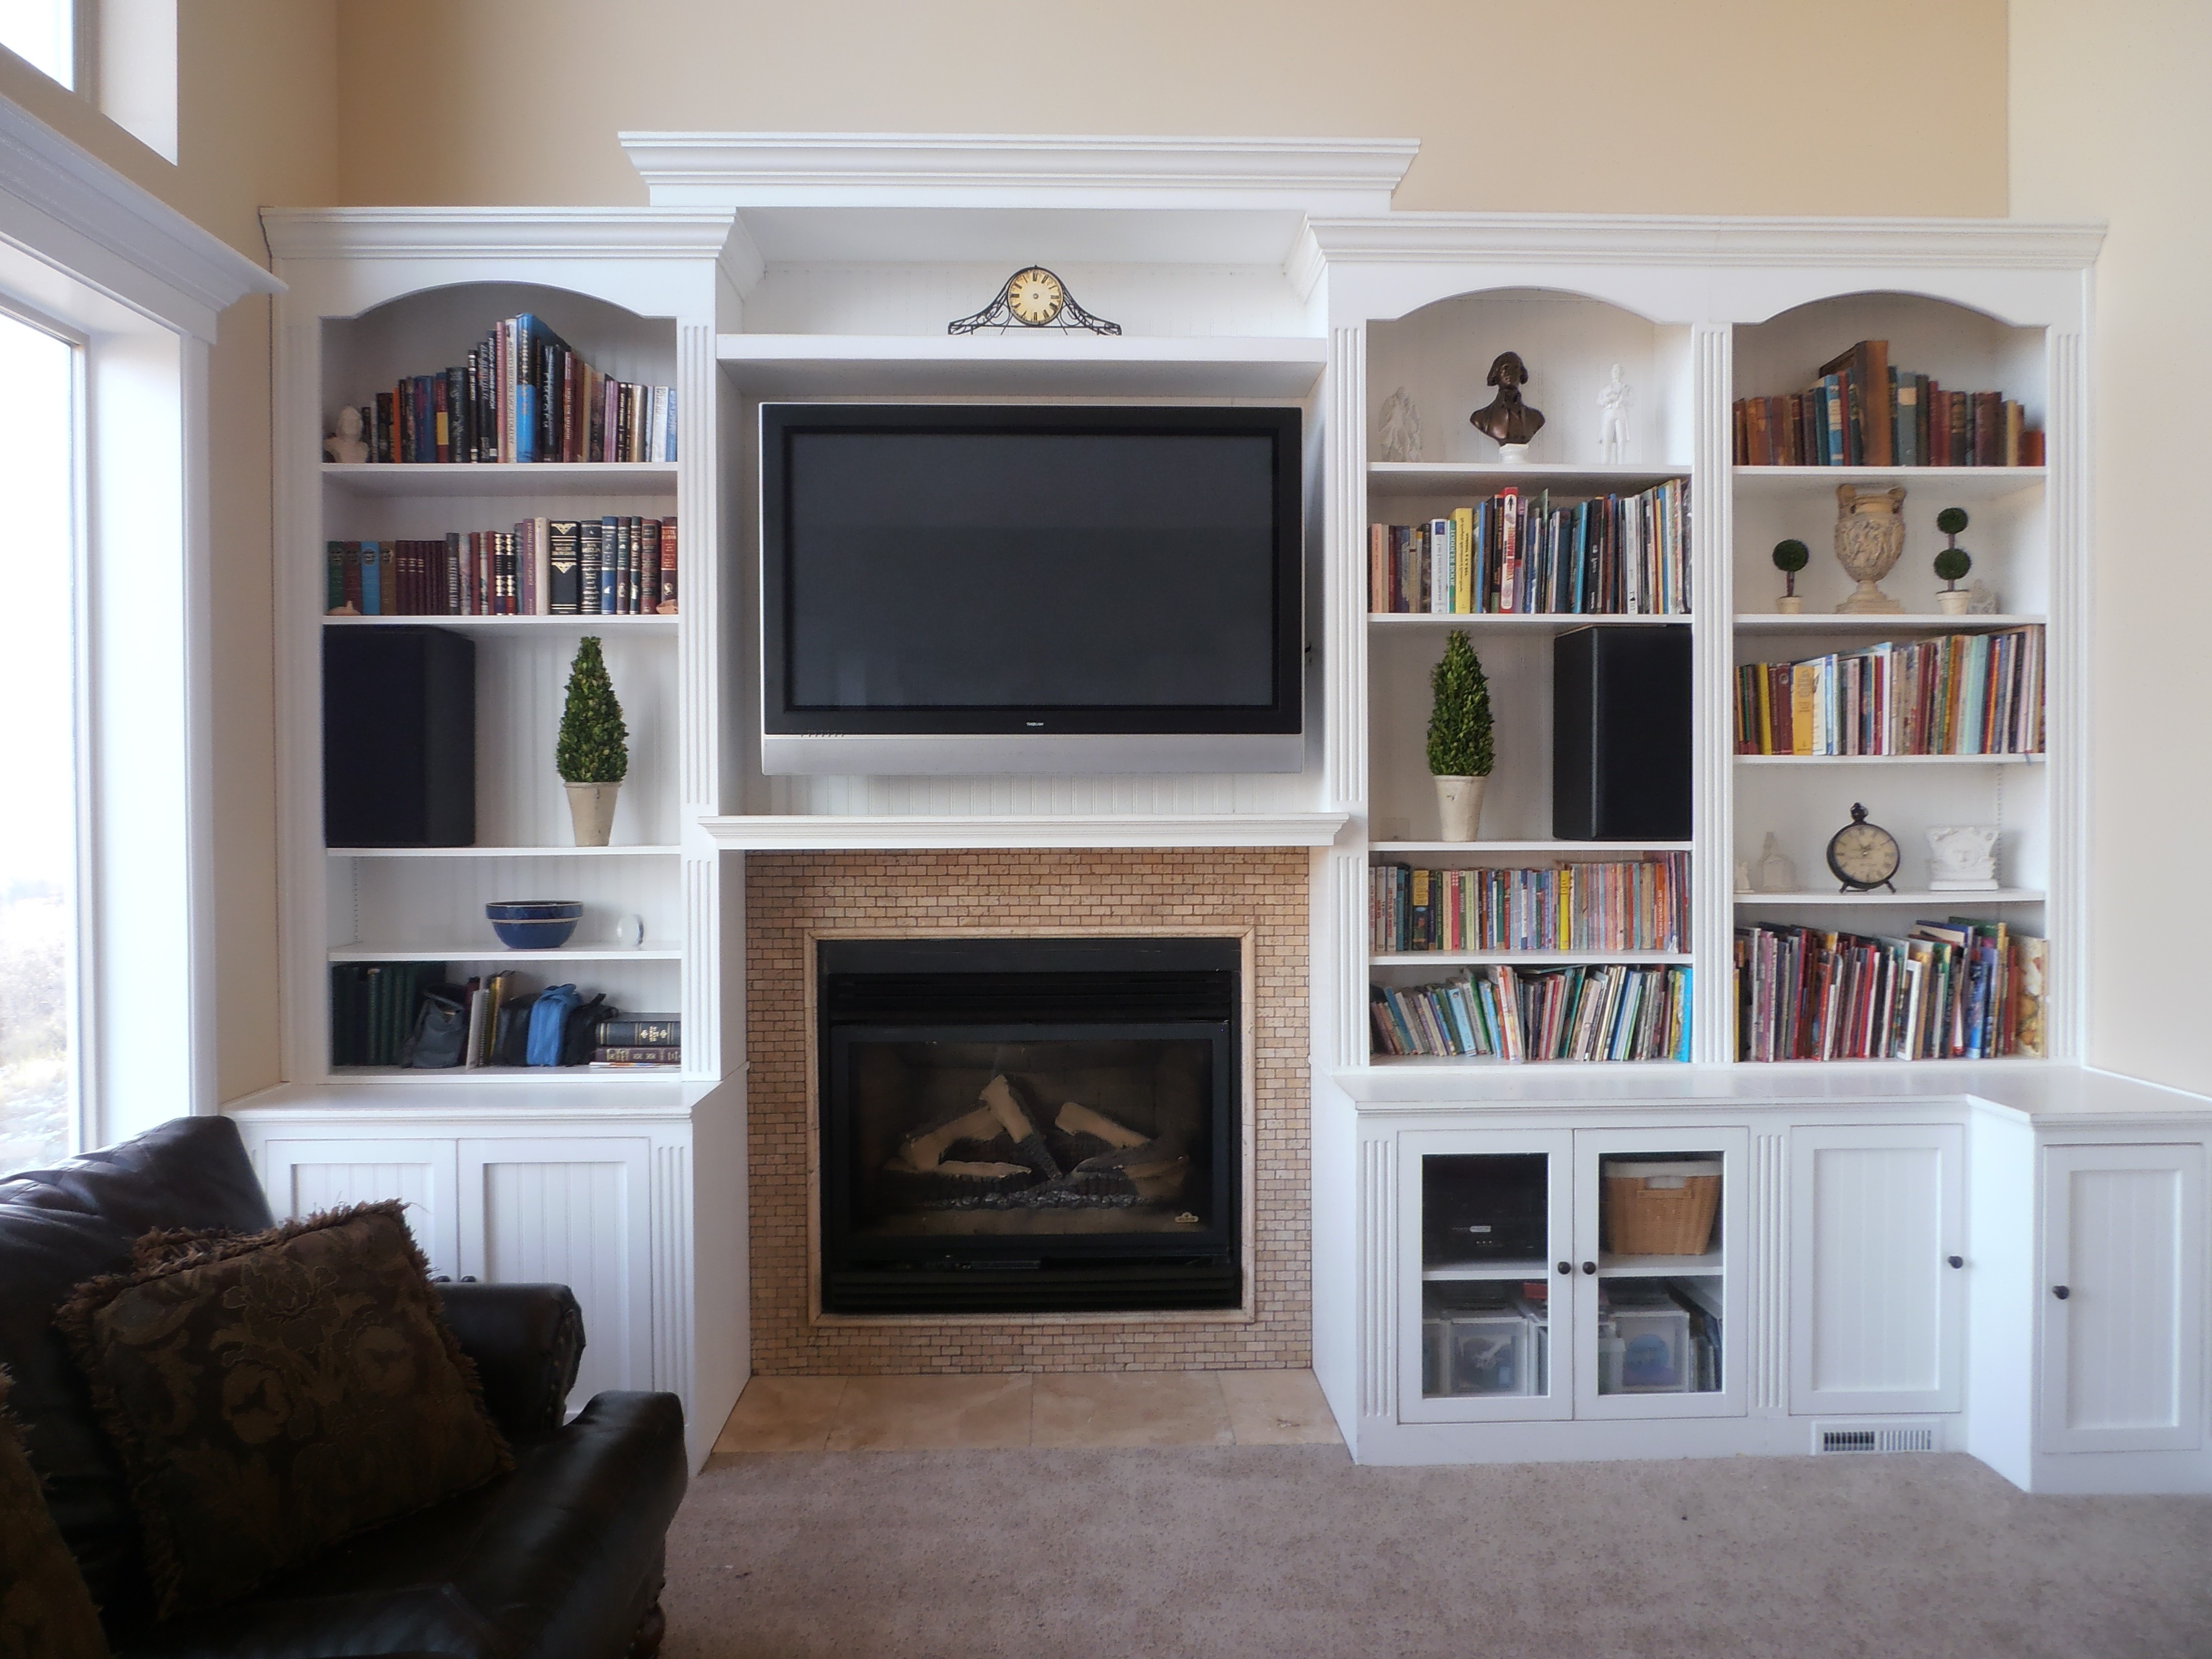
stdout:
<svg viewBox="0 0 2212 1659">
<path fill-rule="evenodd" d="M 1971 265 L 2086 270 L 2101 223 L 2020 219 L 1723 219 L 1566 212 L 1314 217 L 1321 259 L 1352 263 Z"/>
</svg>

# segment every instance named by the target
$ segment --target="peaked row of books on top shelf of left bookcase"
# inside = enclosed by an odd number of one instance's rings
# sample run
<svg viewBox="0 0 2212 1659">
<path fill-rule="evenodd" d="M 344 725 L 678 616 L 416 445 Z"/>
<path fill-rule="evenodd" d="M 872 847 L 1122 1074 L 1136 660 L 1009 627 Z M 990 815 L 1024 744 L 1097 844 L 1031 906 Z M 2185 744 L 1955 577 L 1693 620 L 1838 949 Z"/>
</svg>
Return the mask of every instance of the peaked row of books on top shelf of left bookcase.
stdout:
<svg viewBox="0 0 2212 1659">
<path fill-rule="evenodd" d="M 675 387 L 599 374 L 531 312 L 363 407 L 369 460 L 675 460 Z"/>
</svg>

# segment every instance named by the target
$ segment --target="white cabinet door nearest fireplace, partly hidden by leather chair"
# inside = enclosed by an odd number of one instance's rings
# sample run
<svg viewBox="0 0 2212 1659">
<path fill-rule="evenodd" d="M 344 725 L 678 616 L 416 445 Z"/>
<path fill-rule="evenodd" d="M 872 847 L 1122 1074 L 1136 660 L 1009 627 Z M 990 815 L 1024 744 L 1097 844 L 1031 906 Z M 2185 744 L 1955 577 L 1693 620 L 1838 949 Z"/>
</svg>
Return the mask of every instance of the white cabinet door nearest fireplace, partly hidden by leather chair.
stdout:
<svg viewBox="0 0 2212 1659">
<path fill-rule="evenodd" d="M 584 1310 L 571 1405 L 653 1387 L 650 1141 L 460 1141 L 460 1263 L 493 1285 L 568 1285 Z"/>
</svg>

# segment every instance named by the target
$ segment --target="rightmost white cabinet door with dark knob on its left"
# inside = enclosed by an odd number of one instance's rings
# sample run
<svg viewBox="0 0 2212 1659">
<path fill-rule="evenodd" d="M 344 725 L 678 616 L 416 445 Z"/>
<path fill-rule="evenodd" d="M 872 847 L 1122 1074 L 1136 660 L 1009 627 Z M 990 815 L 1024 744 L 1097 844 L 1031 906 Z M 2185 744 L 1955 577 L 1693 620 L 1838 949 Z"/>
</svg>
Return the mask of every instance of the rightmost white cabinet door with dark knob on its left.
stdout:
<svg viewBox="0 0 2212 1659">
<path fill-rule="evenodd" d="M 2044 1148 L 2042 1451 L 2203 1433 L 2203 1148 Z"/>
</svg>

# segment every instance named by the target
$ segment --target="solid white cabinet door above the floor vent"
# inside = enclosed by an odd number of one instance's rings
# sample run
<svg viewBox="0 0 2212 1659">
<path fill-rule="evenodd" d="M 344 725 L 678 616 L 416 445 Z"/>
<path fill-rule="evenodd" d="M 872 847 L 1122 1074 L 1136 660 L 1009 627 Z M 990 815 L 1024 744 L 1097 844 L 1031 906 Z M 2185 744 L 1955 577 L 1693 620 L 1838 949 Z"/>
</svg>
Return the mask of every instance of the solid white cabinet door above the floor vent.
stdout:
<svg viewBox="0 0 2212 1659">
<path fill-rule="evenodd" d="M 1953 1124 L 1790 1130 L 1792 1411 L 1960 1409 L 1962 1141 Z"/>
</svg>

